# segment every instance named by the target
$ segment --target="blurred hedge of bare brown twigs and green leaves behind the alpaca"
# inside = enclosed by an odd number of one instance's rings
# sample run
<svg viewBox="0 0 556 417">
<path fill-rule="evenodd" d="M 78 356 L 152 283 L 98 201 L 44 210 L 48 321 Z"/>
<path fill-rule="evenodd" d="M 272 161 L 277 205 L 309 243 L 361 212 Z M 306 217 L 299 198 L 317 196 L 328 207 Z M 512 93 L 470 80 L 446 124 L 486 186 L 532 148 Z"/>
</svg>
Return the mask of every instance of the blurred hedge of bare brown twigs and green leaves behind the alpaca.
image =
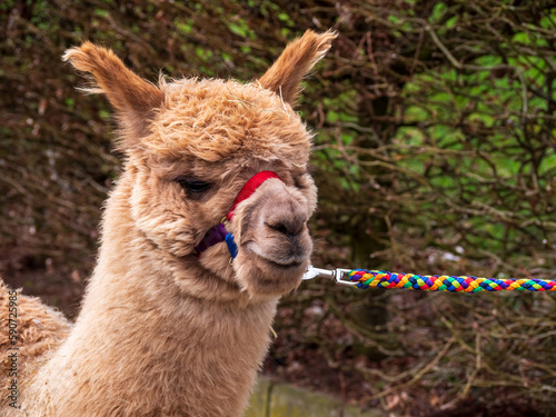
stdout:
<svg viewBox="0 0 556 417">
<path fill-rule="evenodd" d="M 156 81 L 249 81 L 338 30 L 298 111 L 318 135 L 312 264 L 556 279 L 554 1 L 4 0 L 0 275 L 70 317 L 120 170 L 83 39 Z M 556 298 L 357 290 L 286 297 L 264 374 L 399 416 L 556 416 Z"/>
</svg>

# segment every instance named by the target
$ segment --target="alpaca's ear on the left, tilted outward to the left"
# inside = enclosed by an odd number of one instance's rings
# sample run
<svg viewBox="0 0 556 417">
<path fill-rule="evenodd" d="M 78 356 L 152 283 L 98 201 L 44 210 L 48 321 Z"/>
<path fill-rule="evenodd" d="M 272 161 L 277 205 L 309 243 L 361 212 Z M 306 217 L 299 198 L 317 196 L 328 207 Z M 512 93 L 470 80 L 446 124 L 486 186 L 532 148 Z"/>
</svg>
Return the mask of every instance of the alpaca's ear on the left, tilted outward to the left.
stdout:
<svg viewBox="0 0 556 417">
<path fill-rule="evenodd" d="M 110 50 L 91 42 L 66 51 L 62 59 L 80 71 L 92 73 L 96 83 L 83 89 L 105 93 L 116 108 L 126 138 L 140 138 L 148 133 L 148 120 L 163 101 L 163 93 L 143 80 Z M 123 143 L 129 147 L 132 143 Z"/>
</svg>

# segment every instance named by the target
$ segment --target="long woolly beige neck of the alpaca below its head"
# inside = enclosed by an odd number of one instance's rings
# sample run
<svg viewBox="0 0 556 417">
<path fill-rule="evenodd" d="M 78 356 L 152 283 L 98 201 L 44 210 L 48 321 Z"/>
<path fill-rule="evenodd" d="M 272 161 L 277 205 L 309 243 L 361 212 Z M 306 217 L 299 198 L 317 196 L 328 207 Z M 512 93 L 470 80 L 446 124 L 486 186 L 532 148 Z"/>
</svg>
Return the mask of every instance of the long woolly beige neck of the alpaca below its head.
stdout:
<svg viewBox="0 0 556 417">
<path fill-rule="evenodd" d="M 161 264 L 133 226 L 123 180 L 107 205 L 82 311 L 36 386 L 57 381 L 42 388 L 56 398 L 57 416 L 112 409 L 122 416 L 235 416 L 268 348 L 277 300 L 231 302 L 185 292 L 176 274 L 199 285 L 207 271 L 195 260 Z M 237 290 L 237 297 L 245 296 Z"/>
</svg>

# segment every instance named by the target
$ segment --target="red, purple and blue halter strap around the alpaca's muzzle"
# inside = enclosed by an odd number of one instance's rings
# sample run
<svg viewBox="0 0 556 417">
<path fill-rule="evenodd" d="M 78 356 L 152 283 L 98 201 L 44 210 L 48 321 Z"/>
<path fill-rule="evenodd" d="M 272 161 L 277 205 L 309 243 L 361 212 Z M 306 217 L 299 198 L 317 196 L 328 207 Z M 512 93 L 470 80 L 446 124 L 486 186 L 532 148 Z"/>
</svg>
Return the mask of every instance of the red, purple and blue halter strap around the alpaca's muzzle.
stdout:
<svg viewBox="0 0 556 417">
<path fill-rule="evenodd" d="M 227 219 L 228 221 L 231 221 L 231 219 L 234 218 L 234 214 L 236 212 L 237 206 L 241 201 L 247 200 L 249 197 L 251 197 L 255 190 L 259 188 L 262 185 L 262 182 L 265 182 L 267 179 L 270 178 L 278 178 L 279 180 L 281 180 L 280 177 L 278 177 L 278 175 L 274 171 L 260 171 L 254 175 L 251 178 L 249 178 L 249 180 L 244 185 L 238 196 L 234 200 L 234 203 L 231 205 L 231 208 L 229 209 L 228 214 L 226 215 L 225 218 L 222 218 L 222 221 L 220 221 L 215 227 L 210 228 L 205 234 L 201 241 L 195 247 L 198 258 L 205 250 L 207 250 L 211 246 L 220 244 L 221 241 L 226 241 L 226 244 L 228 245 L 228 250 L 230 251 L 232 258 L 237 256 L 238 249 L 236 242 L 234 241 L 234 235 L 226 231 L 226 228 L 224 226 L 224 220 Z"/>
</svg>

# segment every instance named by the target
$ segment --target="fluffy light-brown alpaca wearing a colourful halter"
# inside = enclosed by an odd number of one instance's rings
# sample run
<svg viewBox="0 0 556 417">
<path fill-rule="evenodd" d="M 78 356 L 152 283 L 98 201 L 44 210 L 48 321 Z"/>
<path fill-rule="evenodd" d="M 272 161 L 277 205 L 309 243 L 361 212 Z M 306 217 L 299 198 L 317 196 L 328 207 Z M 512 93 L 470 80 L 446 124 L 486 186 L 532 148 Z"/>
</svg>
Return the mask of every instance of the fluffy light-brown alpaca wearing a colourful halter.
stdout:
<svg viewBox="0 0 556 417">
<path fill-rule="evenodd" d="M 335 38 L 308 30 L 251 83 L 155 86 L 111 50 L 85 42 L 66 52 L 92 75 L 88 91 L 113 106 L 125 169 L 76 322 L 17 297 L 20 326 L 49 334 L 22 351 L 21 408 L 3 403 L 4 415 L 242 414 L 278 299 L 309 265 L 311 135 L 292 106 Z M 222 232 L 228 245 L 211 241 Z M 28 336 L 19 334 L 22 348 Z"/>
</svg>

